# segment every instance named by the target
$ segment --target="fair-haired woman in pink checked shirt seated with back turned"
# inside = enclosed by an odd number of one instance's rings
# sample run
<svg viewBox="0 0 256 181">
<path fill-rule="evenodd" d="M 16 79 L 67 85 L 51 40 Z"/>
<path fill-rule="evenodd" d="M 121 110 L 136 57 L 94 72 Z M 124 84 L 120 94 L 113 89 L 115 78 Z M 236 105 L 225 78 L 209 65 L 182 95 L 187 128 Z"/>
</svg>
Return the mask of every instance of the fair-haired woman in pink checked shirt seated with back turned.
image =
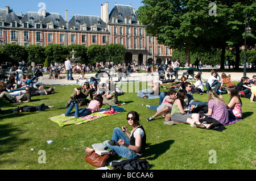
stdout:
<svg viewBox="0 0 256 181">
<path fill-rule="evenodd" d="M 214 90 L 208 92 L 208 112 L 205 115 L 216 119 L 223 125 L 229 123 L 228 108 L 224 100 L 219 98 Z"/>
</svg>

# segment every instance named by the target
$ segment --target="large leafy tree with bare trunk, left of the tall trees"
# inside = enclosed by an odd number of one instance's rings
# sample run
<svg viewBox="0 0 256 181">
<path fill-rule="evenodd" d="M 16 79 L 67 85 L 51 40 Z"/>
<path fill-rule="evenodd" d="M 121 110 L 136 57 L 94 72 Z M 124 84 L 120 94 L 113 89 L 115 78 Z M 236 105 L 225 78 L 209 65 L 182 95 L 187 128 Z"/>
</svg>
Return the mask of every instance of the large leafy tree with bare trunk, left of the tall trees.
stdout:
<svg viewBox="0 0 256 181">
<path fill-rule="evenodd" d="M 202 35 L 209 1 L 143 0 L 138 19 L 146 32 L 156 36 L 160 44 L 172 49 L 185 49 L 185 64 L 190 63 L 191 48 Z"/>
</svg>

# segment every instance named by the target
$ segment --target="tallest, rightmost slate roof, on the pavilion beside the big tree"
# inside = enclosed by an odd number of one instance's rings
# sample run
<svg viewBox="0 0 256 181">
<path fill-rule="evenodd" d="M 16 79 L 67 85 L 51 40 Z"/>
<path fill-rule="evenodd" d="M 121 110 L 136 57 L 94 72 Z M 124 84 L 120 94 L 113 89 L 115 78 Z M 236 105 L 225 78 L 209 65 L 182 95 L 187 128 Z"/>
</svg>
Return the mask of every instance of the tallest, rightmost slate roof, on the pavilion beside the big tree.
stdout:
<svg viewBox="0 0 256 181">
<path fill-rule="evenodd" d="M 121 15 L 119 15 L 121 13 Z M 129 5 L 115 5 L 109 14 L 109 22 L 113 22 L 113 16 L 118 17 L 119 24 L 125 24 L 125 17 L 131 16 L 131 24 L 138 24 L 137 14 L 133 13 L 133 7 Z"/>
</svg>

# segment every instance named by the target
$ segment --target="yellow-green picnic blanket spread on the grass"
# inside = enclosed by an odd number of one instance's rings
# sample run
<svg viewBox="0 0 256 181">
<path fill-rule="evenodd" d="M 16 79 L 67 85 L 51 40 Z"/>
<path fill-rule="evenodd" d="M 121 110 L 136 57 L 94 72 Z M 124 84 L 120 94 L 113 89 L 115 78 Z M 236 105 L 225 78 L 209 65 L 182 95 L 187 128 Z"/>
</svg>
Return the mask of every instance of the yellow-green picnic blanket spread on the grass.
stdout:
<svg viewBox="0 0 256 181">
<path fill-rule="evenodd" d="M 82 117 L 75 117 L 75 116 L 65 116 L 65 114 L 63 113 L 62 115 L 59 116 L 53 116 L 53 117 L 49 117 L 49 119 L 57 124 L 59 124 L 60 127 L 64 127 L 65 125 L 71 125 L 71 124 L 83 124 L 83 123 L 87 123 L 89 121 L 98 119 L 100 117 L 106 117 L 106 116 L 110 116 L 110 115 L 115 115 L 116 113 L 113 114 L 105 114 L 104 112 L 108 112 L 109 109 L 101 109 L 100 112 L 94 112 L 91 113 L 90 115 L 87 116 L 82 116 Z"/>
</svg>

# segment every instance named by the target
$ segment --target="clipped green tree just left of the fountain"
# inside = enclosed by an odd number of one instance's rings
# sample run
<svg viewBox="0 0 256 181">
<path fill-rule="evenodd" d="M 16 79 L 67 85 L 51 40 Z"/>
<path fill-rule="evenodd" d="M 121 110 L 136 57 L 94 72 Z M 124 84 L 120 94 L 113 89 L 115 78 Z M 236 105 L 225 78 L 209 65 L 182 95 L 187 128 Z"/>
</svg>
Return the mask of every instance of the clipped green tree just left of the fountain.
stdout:
<svg viewBox="0 0 256 181">
<path fill-rule="evenodd" d="M 46 57 L 49 61 L 64 63 L 66 58 L 69 56 L 69 51 L 67 47 L 52 44 L 46 47 Z"/>
</svg>

